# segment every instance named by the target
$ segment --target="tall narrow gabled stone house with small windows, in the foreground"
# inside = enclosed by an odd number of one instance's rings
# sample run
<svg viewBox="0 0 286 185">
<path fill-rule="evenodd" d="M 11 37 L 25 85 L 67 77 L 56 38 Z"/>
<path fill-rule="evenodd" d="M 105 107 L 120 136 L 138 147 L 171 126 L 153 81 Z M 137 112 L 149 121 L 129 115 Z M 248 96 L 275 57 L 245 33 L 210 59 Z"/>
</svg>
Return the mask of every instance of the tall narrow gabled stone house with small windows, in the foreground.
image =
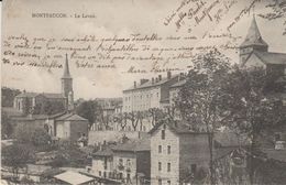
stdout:
<svg viewBox="0 0 286 185">
<path fill-rule="evenodd" d="M 164 123 L 151 131 L 151 184 L 182 184 L 196 173 L 207 170 L 208 135 L 194 132 L 184 123 Z"/>
</svg>

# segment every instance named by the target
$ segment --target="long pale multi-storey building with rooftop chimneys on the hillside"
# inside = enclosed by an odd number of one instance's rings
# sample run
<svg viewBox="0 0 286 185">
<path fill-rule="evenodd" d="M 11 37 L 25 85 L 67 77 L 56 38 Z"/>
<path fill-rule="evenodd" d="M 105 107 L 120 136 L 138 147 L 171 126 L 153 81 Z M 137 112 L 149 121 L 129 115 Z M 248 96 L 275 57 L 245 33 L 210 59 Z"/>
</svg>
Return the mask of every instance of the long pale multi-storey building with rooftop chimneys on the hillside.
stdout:
<svg viewBox="0 0 286 185">
<path fill-rule="evenodd" d="M 151 108 L 164 109 L 168 106 L 169 87 L 178 81 L 179 75 L 167 77 L 158 75 L 156 78 L 134 81 L 133 87 L 123 90 L 123 112 L 146 111 Z"/>
</svg>

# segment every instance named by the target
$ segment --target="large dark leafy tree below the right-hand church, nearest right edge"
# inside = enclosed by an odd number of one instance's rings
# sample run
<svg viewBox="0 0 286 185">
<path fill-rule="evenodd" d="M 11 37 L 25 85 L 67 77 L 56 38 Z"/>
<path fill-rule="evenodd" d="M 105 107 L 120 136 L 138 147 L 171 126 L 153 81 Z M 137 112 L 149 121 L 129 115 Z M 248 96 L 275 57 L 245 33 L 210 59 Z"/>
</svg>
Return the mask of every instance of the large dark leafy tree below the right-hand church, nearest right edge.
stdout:
<svg viewBox="0 0 286 185">
<path fill-rule="evenodd" d="M 240 133 L 246 134 L 251 141 L 249 174 L 254 183 L 254 155 L 260 154 L 261 139 L 266 138 L 271 130 L 285 124 L 285 108 L 275 96 L 273 74 L 256 67 L 252 69 L 235 68 L 226 84 L 223 91 L 229 95 L 226 105 L 232 117 L 229 126 Z"/>
</svg>

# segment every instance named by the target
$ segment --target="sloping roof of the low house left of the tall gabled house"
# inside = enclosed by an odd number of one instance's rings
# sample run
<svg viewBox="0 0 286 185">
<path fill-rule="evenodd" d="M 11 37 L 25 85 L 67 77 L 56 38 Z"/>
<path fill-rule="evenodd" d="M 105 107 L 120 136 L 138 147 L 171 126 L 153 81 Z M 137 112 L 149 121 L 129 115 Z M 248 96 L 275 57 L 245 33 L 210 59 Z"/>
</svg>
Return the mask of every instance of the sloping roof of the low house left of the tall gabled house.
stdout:
<svg viewBox="0 0 286 185">
<path fill-rule="evenodd" d="M 139 151 L 150 151 L 150 138 L 143 140 L 131 140 L 122 144 L 118 144 L 112 148 L 113 151 L 124 151 L 124 152 L 139 152 Z"/>
</svg>

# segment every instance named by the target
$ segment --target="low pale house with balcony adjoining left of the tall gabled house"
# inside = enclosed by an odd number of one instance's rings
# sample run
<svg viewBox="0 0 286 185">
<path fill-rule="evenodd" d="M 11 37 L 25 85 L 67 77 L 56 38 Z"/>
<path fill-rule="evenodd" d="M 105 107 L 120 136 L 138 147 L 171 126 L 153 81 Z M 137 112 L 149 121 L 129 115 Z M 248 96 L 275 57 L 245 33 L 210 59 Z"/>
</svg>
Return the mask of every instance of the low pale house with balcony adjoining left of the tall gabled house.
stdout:
<svg viewBox="0 0 286 185">
<path fill-rule="evenodd" d="M 92 154 L 90 173 L 124 184 L 147 184 L 151 176 L 150 140 L 131 140 L 105 146 Z"/>
</svg>

